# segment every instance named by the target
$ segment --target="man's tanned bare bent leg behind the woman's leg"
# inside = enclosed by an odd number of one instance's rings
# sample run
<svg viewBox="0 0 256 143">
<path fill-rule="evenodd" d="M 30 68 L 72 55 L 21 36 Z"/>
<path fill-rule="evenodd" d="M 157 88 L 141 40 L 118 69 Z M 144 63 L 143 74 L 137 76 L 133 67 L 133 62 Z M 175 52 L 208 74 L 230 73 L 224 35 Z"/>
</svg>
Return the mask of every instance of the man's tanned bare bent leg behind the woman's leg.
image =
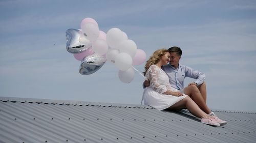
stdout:
<svg viewBox="0 0 256 143">
<path fill-rule="evenodd" d="M 207 114 L 209 114 L 211 111 L 208 108 L 208 106 L 206 105 L 199 89 L 197 88 L 196 85 L 189 85 L 188 87 L 186 87 L 184 89 L 184 93 L 188 96 L 190 96 L 190 98 L 192 100 L 194 100 L 196 102 L 196 104 Z"/>
</svg>

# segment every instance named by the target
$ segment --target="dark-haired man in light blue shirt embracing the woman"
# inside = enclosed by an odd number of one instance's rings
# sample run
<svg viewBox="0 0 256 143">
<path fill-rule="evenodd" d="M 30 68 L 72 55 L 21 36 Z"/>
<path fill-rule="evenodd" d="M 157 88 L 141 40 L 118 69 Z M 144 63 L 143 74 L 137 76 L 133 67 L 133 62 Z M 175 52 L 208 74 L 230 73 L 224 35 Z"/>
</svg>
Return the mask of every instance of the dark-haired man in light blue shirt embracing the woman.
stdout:
<svg viewBox="0 0 256 143">
<path fill-rule="evenodd" d="M 170 47 L 168 50 L 170 52 L 170 62 L 168 65 L 162 66 L 162 69 L 168 75 L 172 87 L 180 90 L 181 93 L 190 96 L 191 99 L 193 99 L 198 106 L 210 116 L 216 116 L 206 105 L 205 74 L 179 64 L 182 55 L 182 50 L 179 47 Z M 194 78 L 196 80 L 189 83 L 188 86 L 184 88 L 185 77 Z M 148 87 L 150 82 L 145 80 L 143 85 L 144 87 Z"/>
</svg>

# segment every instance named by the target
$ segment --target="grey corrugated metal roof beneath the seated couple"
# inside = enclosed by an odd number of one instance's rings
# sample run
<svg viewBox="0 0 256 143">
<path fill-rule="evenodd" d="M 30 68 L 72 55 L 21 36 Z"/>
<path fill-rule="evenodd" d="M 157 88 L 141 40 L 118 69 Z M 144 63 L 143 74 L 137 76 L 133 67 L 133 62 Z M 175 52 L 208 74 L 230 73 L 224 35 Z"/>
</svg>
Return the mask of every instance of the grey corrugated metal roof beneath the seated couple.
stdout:
<svg viewBox="0 0 256 143">
<path fill-rule="evenodd" d="M 0 97 L 0 142 L 256 142 L 256 113 L 215 110 L 201 124 L 187 110 Z"/>
</svg>

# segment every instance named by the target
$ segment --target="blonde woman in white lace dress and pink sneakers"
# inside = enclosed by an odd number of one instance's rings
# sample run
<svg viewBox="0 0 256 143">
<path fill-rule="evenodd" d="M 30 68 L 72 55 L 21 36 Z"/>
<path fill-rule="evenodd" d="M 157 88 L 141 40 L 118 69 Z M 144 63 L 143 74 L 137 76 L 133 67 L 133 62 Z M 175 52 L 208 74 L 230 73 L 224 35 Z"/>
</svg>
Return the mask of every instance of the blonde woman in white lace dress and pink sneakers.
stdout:
<svg viewBox="0 0 256 143">
<path fill-rule="evenodd" d="M 167 74 L 161 69 L 169 61 L 168 50 L 158 49 L 146 62 L 143 73 L 150 80 L 150 87 L 143 92 L 144 104 L 158 110 L 187 108 L 194 116 L 201 118 L 201 123 L 214 126 L 225 125 L 225 121 L 207 115 L 189 96 L 180 93 L 170 85 Z"/>
</svg>

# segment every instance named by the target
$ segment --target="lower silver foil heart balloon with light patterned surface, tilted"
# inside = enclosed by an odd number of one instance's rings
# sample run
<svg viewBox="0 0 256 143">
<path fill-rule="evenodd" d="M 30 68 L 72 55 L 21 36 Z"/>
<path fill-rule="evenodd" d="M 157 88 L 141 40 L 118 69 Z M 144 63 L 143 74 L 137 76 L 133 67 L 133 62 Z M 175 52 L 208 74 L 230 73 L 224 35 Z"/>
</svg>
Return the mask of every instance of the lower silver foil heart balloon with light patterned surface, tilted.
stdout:
<svg viewBox="0 0 256 143">
<path fill-rule="evenodd" d="M 81 61 L 79 73 L 82 75 L 95 73 L 105 64 L 105 62 L 106 58 L 104 56 L 96 53 L 88 55 Z"/>
</svg>

